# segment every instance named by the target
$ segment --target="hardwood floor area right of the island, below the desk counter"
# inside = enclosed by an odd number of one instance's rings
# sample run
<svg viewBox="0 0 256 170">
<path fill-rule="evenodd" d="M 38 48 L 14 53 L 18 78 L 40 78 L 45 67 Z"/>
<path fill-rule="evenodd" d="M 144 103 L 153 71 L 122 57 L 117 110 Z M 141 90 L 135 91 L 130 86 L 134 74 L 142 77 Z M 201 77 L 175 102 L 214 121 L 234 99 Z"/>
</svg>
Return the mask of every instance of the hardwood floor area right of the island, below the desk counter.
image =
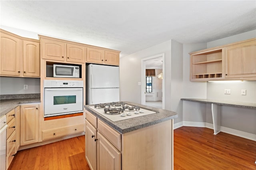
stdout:
<svg viewBox="0 0 256 170">
<path fill-rule="evenodd" d="M 174 170 L 256 170 L 256 141 L 209 128 L 174 130 Z"/>
</svg>

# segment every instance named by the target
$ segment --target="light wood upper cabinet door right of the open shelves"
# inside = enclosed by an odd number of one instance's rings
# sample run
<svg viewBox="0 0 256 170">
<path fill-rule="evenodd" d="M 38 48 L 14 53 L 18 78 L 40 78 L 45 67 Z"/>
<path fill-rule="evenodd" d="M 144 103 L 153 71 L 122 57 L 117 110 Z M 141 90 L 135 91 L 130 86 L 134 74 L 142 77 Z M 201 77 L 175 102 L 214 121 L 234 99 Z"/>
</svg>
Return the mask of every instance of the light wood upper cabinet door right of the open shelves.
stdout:
<svg viewBox="0 0 256 170">
<path fill-rule="evenodd" d="M 256 77 L 256 40 L 226 48 L 226 78 Z"/>
</svg>

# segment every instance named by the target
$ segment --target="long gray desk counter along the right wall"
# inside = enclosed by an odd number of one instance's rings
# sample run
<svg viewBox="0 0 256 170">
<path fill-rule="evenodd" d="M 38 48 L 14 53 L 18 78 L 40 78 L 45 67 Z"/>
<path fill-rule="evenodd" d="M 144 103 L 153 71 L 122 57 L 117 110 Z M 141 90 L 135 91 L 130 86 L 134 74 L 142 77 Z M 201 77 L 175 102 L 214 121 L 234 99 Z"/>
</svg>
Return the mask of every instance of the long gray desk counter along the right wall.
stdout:
<svg viewBox="0 0 256 170">
<path fill-rule="evenodd" d="M 214 103 L 217 105 L 235 106 L 235 107 L 245 107 L 250 109 L 256 109 L 256 103 L 245 103 L 237 101 L 224 101 L 224 100 L 214 100 L 214 99 L 181 99 L 184 101 L 195 101 L 200 103 Z"/>
</svg>

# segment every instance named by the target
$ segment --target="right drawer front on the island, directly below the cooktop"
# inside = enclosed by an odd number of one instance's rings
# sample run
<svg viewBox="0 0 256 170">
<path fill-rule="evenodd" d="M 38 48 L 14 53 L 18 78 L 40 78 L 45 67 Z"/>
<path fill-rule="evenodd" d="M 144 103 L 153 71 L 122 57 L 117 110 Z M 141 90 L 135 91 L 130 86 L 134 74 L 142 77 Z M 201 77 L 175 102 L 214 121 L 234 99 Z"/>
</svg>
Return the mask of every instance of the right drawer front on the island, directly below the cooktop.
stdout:
<svg viewBox="0 0 256 170">
<path fill-rule="evenodd" d="M 98 119 L 98 131 L 108 139 L 119 151 L 121 151 L 121 134 Z"/>
</svg>

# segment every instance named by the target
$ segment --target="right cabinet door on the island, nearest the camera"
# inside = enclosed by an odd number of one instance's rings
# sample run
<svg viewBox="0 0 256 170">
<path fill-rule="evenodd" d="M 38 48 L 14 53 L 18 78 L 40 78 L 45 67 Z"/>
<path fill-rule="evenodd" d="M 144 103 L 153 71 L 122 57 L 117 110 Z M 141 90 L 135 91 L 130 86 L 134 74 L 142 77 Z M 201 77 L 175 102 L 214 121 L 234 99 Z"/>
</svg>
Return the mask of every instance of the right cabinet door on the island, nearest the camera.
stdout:
<svg viewBox="0 0 256 170">
<path fill-rule="evenodd" d="M 121 170 L 121 153 L 97 132 L 97 170 Z"/>
</svg>

